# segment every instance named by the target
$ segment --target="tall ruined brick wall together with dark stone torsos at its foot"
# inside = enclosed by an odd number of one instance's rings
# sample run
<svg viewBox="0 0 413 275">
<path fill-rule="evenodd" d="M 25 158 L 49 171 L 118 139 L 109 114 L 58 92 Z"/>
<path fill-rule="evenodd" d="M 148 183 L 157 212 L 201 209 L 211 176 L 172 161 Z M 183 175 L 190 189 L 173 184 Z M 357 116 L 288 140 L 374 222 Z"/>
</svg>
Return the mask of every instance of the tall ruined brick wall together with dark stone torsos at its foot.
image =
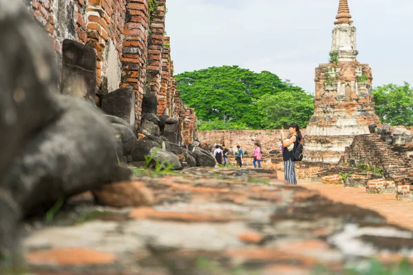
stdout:
<svg viewBox="0 0 413 275">
<path fill-rule="evenodd" d="M 167 131 L 172 142 L 191 144 L 196 118 L 182 103 L 173 78 L 165 2 L 24 1 L 56 50 L 61 94 L 95 102 L 106 113 L 127 120 L 136 133 L 145 129 L 145 116 L 149 133 Z"/>
</svg>

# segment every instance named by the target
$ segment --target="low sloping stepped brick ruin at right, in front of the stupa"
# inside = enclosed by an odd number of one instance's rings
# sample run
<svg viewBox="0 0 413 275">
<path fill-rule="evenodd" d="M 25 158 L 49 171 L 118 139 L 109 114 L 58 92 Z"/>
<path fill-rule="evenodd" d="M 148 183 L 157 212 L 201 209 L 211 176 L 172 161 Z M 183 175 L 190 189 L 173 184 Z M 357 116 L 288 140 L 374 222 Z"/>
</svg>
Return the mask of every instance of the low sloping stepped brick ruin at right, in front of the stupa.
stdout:
<svg viewBox="0 0 413 275">
<path fill-rule="evenodd" d="M 341 157 L 341 163 L 381 174 L 374 179 L 374 173 L 364 173 L 363 177 L 355 173 L 354 176 L 359 177 L 355 181 L 363 181 L 359 187 L 366 186 L 367 192 L 396 192 L 398 199 L 413 201 L 412 132 L 402 128 L 379 132 L 355 137 Z"/>
</svg>

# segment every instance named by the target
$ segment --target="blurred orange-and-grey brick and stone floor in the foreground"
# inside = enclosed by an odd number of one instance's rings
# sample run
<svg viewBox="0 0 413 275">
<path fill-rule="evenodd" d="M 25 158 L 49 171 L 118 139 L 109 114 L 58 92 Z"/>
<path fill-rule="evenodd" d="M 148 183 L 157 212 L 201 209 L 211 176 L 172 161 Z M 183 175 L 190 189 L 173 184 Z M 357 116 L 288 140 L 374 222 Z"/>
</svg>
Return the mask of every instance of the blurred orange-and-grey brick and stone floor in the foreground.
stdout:
<svg viewBox="0 0 413 275">
<path fill-rule="evenodd" d="M 413 256 L 410 230 L 288 185 L 275 171 L 188 168 L 136 179 L 153 192 L 152 206 L 98 208 L 85 196 L 51 224 L 29 222 L 38 224 L 23 241 L 29 274 L 288 275 L 319 265 L 343 274 L 366 258 Z"/>
</svg>

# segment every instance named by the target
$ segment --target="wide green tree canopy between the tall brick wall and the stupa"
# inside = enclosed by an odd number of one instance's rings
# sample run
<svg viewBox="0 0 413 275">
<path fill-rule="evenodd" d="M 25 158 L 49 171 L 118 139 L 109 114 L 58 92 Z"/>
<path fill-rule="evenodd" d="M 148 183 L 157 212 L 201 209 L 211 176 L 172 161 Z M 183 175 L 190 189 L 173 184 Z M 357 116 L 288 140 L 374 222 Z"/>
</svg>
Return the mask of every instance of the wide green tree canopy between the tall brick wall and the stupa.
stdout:
<svg viewBox="0 0 413 275">
<path fill-rule="evenodd" d="M 184 72 L 176 79 L 201 130 L 274 129 L 291 122 L 305 127 L 313 114 L 313 96 L 271 72 L 223 66 Z"/>
</svg>

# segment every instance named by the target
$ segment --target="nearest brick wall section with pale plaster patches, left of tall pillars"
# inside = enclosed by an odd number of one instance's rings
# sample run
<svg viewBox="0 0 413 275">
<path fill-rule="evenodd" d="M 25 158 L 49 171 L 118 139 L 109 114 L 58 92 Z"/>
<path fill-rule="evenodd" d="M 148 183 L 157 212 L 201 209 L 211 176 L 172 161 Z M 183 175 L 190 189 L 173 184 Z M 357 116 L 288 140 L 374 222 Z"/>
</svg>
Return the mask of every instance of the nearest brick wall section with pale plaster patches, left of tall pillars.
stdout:
<svg viewBox="0 0 413 275">
<path fill-rule="evenodd" d="M 50 34 L 59 64 L 64 39 L 89 45 L 97 55 L 98 96 L 119 87 L 126 0 L 30 0 L 28 4 Z"/>
</svg>

